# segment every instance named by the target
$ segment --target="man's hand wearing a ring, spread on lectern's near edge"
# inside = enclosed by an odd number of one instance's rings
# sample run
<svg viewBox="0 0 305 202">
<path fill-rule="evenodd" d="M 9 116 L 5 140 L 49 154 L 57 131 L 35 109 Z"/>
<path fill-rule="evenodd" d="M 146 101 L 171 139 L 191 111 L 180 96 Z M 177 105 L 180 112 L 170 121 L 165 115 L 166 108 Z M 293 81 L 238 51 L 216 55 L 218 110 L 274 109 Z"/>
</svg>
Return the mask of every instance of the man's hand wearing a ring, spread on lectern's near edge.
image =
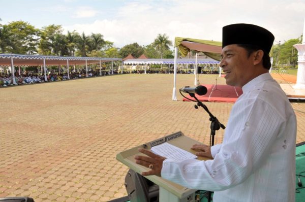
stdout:
<svg viewBox="0 0 305 202">
<path fill-rule="evenodd" d="M 147 156 L 135 156 L 136 163 L 143 165 L 145 167 L 149 167 L 149 169 L 151 169 L 150 171 L 143 172 L 142 175 L 143 176 L 156 175 L 161 177 L 163 161 L 166 158 L 154 154 L 153 152 L 148 151 L 146 149 L 139 148 L 138 151 L 143 154 L 146 154 Z"/>
</svg>

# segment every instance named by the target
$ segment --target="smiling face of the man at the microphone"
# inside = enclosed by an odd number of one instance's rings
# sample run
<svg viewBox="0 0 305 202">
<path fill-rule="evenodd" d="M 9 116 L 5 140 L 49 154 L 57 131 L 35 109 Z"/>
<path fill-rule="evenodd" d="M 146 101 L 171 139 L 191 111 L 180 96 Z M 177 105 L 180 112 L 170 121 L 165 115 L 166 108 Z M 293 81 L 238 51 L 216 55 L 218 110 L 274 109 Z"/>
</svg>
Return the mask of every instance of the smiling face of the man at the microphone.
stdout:
<svg viewBox="0 0 305 202">
<path fill-rule="evenodd" d="M 242 87 L 248 83 L 253 73 L 252 57 L 248 58 L 245 48 L 236 44 L 225 46 L 222 49 L 222 60 L 219 64 L 226 74 L 226 83 L 230 86 Z"/>
</svg>

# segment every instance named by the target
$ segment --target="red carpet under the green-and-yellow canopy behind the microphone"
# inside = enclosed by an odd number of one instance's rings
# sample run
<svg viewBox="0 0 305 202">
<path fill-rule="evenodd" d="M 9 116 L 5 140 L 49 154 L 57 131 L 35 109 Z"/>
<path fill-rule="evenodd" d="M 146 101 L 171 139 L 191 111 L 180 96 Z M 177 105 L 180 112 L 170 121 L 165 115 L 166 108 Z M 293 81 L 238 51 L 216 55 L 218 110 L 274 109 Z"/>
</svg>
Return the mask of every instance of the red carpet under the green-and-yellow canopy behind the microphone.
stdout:
<svg viewBox="0 0 305 202">
<path fill-rule="evenodd" d="M 207 88 L 205 95 L 197 95 L 196 97 L 201 102 L 223 102 L 223 103 L 235 103 L 236 99 L 242 94 L 240 87 L 233 87 L 228 85 L 204 85 Z M 194 100 L 190 95 L 186 97 Z M 183 101 L 190 101 L 186 98 Z"/>
</svg>

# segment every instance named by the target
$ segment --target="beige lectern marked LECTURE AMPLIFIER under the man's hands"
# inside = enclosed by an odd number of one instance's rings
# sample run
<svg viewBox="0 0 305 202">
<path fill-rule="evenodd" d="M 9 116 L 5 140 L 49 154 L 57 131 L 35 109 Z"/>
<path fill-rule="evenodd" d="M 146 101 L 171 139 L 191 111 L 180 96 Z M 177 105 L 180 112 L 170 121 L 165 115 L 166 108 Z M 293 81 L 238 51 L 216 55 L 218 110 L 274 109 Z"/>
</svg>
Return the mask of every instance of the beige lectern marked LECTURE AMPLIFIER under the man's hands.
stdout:
<svg viewBox="0 0 305 202">
<path fill-rule="evenodd" d="M 135 162 L 134 157 L 136 155 L 144 155 L 138 152 L 138 148 L 144 148 L 150 150 L 151 147 L 162 143 L 169 143 L 181 149 L 184 149 L 190 153 L 195 154 L 195 150 L 191 149 L 194 144 L 200 144 L 196 140 L 193 140 L 187 136 L 185 136 L 181 131 L 175 132 L 163 138 L 145 143 L 138 147 L 120 152 L 116 155 L 116 159 L 128 167 L 130 167 L 135 172 L 141 174 L 142 172 L 148 171 L 147 167 L 139 165 Z M 207 160 L 208 158 L 198 157 L 199 160 Z M 148 180 L 154 182 L 159 185 L 160 193 L 159 199 L 161 202 L 193 202 L 195 201 L 195 191 L 194 189 L 189 189 L 186 187 L 182 187 L 176 183 L 170 182 L 158 176 L 145 176 Z"/>
</svg>

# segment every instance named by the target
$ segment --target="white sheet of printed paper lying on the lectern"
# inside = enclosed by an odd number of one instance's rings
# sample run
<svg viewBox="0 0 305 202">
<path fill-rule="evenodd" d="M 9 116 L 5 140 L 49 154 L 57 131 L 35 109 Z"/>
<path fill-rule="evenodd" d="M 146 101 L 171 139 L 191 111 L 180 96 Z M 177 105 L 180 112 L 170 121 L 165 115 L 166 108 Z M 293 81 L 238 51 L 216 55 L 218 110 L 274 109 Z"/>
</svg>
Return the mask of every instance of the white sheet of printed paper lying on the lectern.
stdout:
<svg viewBox="0 0 305 202">
<path fill-rule="evenodd" d="M 172 159 L 176 162 L 197 158 L 196 155 L 194 155 L 186 150 L 180 149 L 179 147 L 173 146 L 169 143 L 163 143 L 163 144 L 151 147 L 151 151 L 153 151 L 155 154 Z"/>
</svg>

